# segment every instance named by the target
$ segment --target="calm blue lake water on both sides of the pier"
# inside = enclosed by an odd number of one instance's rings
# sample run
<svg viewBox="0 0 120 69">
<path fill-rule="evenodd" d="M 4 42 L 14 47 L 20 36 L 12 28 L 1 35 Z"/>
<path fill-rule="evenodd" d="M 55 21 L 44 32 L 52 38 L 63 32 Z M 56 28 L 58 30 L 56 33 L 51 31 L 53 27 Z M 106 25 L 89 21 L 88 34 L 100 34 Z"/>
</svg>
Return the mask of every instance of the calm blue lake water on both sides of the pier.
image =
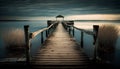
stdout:
<svg viewBox="0 0 120 69">
<path fill-rule="evenodd" d="M 75 21 L 76 27 L 87 29 L 92 31 L 93 25 L 102 25 L 102 24 L 112 24 L 116 26 L 120 26 L 120 21 Z M 24 25 L 29 25 L 29 31 L 33 32 L 44 27 L 47 27 L 47 21 L 0 21 L 0 59 L 7 57 L 7 51 L 5 48 L 5 41 L 3 36 L 5 36 L 5 32 L 9 32 L 11 29 L 21 29 L 24 30 Z M 112 34 L 112 33 L 111 33 Z M 14 37 L 14 36 L 10 36 Z M 45 33 L 44 33 L 45 37 Z M 41 46 L 40 36 L 33 38 L 31 40 L 31 55 L 33 56 L 37 49 Z M 9 38 L 8 38 L 9 39 Z M 78 43 L 80 43 L 80 31 L 75 30 L 75 39 Z M 93 46 L 93 36 L 84 34 L 84 51 L 89 56 L 89 58 L 93 58 L 94 54 L 94 46 Z M 114 61 L 112 63 L 115 66 L 119 66 L 120 64 L 120 37 L 118 37 L 116 45 L 115 45 L 115 56 Z"/>
</svg>

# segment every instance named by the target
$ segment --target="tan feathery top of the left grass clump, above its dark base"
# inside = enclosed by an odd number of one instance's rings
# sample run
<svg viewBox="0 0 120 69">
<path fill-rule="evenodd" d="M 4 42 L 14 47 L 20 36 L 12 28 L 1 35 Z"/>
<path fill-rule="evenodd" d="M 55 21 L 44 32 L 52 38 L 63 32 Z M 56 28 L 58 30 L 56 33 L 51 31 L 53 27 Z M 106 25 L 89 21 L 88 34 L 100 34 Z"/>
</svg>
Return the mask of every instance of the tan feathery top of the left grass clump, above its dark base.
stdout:
<svg viewBox="0 0 120 69">
<path fill-rule="evenodd" d="M 24 31 L 21 29 L 9 29 L 3 33 L 5 46 L 9 50 L 20 50 L 24 48 Z"/>
</svg>

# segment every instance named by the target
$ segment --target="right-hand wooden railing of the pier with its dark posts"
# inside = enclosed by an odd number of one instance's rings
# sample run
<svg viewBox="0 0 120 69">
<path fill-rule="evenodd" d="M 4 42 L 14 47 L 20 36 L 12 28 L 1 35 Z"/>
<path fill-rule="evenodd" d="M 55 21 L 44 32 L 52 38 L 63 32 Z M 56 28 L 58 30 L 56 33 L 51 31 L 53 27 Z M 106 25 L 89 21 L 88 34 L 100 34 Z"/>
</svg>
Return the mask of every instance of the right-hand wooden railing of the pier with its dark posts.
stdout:
<svg viewBox="0 0 120 69">
<path fill-rule="evenodd" d="M 85 29 L 78 28 L 78 27 L 74 26 L 73 21 L 63 22 L 62 24 L 63 24 L 64 28 L 69 32 L 69 34 L 71 34 L 73 36 L 75 35 L 75 29 L 81 31 L 81 38 L 80 38 L 80 46 L 81 46 L 81 48 L 84 48 L 84 38 L 83 38 L 84 33 L 93 36 L 93 40 L 94 40 L 93 41 L 93 46 L 94 46 L 94 57 L 93 57 L 93 59 L 96 60 L 97 47 L 95 46 L 95 44 L 96 44 L 96 41 L 97 41 L 99 25 L 93 25 L 93 31 L 89 31 L 89 30 L 85 30 Z"/>
</svg>

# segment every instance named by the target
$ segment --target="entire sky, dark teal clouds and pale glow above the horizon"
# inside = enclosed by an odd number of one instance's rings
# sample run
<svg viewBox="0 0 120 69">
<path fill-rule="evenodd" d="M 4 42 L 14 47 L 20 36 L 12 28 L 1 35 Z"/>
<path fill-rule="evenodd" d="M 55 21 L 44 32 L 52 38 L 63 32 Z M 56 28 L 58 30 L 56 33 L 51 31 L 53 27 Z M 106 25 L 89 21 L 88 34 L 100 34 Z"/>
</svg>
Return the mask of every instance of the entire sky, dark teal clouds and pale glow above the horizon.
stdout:
<svg viewBox="0 0 120 69">
<path fill-rule="evenodd" d="M 0 20 L 120 20 L 120 0 L 0 0 Z"/>
</svg>

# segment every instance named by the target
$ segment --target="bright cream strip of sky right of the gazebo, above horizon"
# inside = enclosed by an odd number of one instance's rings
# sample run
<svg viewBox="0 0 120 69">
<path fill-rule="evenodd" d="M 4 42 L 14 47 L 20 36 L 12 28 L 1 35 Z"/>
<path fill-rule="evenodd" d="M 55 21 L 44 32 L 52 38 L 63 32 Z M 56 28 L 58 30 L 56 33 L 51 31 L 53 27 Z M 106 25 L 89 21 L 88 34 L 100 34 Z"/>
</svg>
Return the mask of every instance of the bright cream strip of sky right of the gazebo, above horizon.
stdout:
<svg viewBox="0 0 120 69">
<path fill-rule="evenodd" d="M 120 14 L 86 14 L 67 16 L 66 20 L 119 20 Z"/>
</svg>

